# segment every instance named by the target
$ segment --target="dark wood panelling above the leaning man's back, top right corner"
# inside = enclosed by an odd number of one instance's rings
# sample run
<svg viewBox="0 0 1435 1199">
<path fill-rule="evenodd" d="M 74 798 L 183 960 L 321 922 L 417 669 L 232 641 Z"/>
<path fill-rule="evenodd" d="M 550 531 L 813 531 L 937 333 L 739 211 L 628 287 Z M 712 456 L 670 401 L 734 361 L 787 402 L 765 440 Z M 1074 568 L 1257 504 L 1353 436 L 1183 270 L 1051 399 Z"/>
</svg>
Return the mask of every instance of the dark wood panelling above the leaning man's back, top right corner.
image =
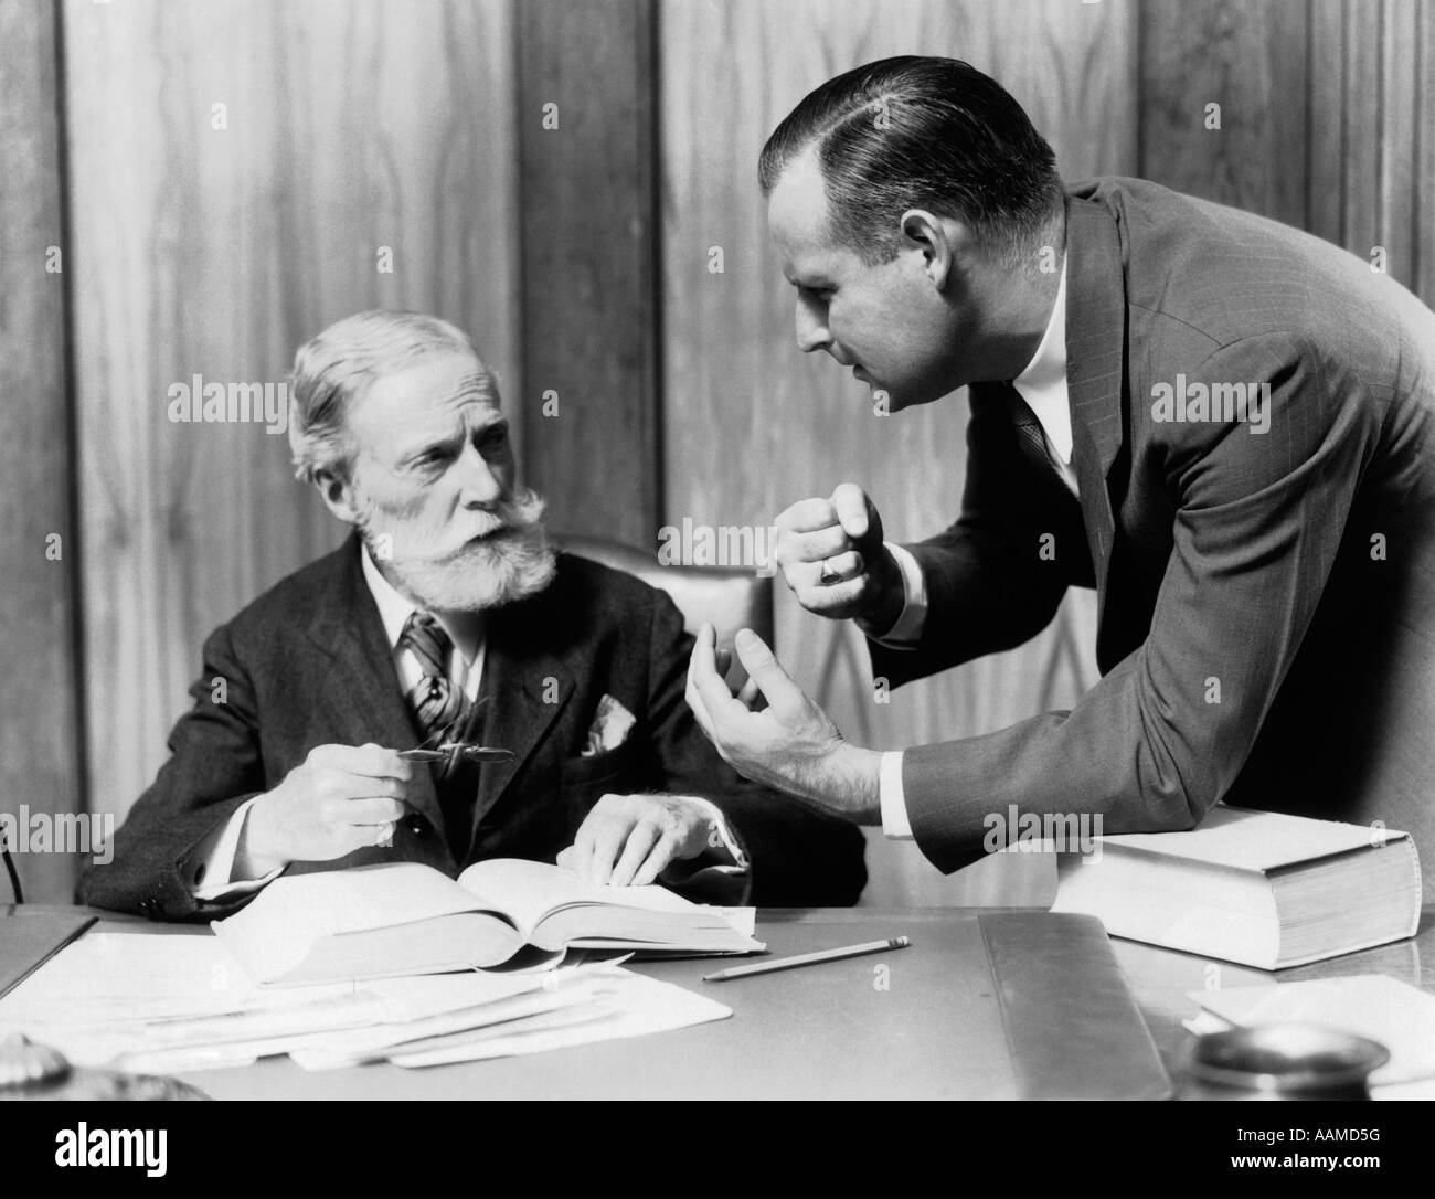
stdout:
<svg viewBox="0 0 1435 1199">
<path fill-rule="evenodd" d="M 1380 247 L 1435 302 L 1435 4 L 1155 0 L 1139 42 L 1142 175 Z"/>
</svg>

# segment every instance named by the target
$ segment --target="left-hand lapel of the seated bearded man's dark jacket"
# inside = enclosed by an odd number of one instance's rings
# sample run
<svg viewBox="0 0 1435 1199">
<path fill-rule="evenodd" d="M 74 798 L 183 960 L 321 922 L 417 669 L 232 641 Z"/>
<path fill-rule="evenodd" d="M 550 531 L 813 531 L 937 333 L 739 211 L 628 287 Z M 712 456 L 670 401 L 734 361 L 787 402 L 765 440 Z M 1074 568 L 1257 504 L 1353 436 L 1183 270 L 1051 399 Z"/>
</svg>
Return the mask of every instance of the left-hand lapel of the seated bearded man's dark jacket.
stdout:
<svg viewBox="0 0 1435 1199">
<path fill-rule="evenodd" d="M 333 740 L 342 745 L 373 741 L 393 750 L 416 744 L 409 705 L 393 669 L 393 650 L 363 580 L 357 537 L 344 546 L 343 569 L 319 605 L 309 636 L 329 658 L 320 704 Z M 413 771 L 409 804 L 435 829 L 443 827 L 432 771 Z"/>
</svg>

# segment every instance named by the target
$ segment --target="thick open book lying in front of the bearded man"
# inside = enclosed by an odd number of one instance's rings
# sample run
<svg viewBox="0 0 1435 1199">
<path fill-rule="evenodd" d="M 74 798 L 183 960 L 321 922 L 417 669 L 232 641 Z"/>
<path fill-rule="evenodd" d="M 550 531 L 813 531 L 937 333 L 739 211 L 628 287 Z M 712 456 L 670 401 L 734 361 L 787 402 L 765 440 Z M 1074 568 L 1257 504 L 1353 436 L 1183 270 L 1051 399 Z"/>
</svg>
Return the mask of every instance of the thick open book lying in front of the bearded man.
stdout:
<svg viewBox="0 0 1435 1199">
<path fill-rule="evenodd" d="M 313 984 L 554 965 L 568 948 L 746 953 L 722 910 L 659 886 L 596 887 L 494 859 L 458 882 L 416 862 L 280 877 L 214 932 L 255 982 Z"/>
</svg>

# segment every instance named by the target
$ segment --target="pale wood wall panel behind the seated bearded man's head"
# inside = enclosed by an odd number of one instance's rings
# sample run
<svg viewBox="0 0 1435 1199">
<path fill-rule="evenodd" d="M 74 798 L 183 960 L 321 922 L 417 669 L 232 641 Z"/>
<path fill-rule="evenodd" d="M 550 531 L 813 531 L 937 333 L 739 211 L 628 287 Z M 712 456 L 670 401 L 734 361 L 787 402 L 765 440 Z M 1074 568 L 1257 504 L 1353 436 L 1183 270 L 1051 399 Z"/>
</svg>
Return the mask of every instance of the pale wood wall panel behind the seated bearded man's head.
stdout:
<svg viewBox="0 0 1435 1199">
<path fill-rule="evenodd" d="M 65 6 L 95 808 L 154 777 L 205 635 L 344 531 L 284 437 L 172 424 L 172 383 L 278 382 L 329 322 L 409 307 L 521 399 L 512 26 L 511 0 Z"/>
</svg>

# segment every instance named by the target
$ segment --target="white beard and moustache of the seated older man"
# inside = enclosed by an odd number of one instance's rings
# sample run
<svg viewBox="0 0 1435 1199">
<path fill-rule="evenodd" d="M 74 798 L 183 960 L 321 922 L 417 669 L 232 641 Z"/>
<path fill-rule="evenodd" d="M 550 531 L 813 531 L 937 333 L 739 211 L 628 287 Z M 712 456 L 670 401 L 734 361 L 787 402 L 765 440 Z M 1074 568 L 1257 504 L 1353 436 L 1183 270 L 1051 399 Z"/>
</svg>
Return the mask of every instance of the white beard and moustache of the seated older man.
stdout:
<svg viewBox="0 0 1435 1199">
<path fill-rule="evenodd" d="M 542 527 L 544 501 L 521 491 L 481 520 L 472 538 L 441 550 L 389 524 L 366 503 L 356 521 L 376 563 L 385 563 L 400 592 L 432 612 L 484 612 L 538 594 L 557 571 L 557 550 Z M 435 551 L 436 550 L 436 551 Z"/>
</svg>

